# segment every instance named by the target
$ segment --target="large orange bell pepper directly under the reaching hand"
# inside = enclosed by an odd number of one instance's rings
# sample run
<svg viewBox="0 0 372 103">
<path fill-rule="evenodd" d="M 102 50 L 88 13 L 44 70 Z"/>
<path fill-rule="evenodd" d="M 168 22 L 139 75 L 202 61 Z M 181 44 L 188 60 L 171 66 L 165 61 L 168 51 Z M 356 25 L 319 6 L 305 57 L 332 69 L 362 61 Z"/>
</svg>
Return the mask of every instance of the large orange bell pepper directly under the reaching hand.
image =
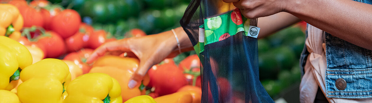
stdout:
<svg viewBox="0 0 372 103">
<path fill-rule="evenodd" d="M 123 101 L 132 97 L 145 94 L 144 87 L 150 82 L 148 75 L 144 77 L 142 84 L 138 84 L 134 89 L 129 89 L 129 78 L 138 67 L 139 61 L 133 58 L 122 58 L 118 56 L 104 56 L 96 60 L 89 73 L 105 73 L 118 80 L 121 86 L 121 96 Z"/>
</svg>

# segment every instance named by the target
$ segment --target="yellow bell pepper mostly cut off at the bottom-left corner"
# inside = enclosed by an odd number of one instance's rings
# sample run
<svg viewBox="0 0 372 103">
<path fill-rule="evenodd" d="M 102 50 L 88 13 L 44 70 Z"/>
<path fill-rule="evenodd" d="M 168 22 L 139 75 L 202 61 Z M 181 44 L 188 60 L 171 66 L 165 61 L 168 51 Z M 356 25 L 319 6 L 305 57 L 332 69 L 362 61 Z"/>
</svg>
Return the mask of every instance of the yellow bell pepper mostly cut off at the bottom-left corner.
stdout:
<svg viewBox="0 0 372 103">
<path fill-rule="evenodd" d="M 7 90 L 0 90 L 0 103 L 21 103 L 16 94 Z"/>
</svg>

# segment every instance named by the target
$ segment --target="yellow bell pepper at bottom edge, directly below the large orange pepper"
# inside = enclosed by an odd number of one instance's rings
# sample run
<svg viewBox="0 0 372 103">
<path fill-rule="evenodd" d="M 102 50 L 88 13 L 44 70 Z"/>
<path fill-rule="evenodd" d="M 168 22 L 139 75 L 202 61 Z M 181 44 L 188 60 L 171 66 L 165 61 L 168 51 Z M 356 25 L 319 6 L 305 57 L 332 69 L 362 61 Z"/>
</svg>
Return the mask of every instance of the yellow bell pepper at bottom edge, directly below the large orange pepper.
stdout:
<svg viewBox="0 0 372 103">
<path fill-rule="evenodd" d="M 123 103 L 119 82 L 108 74 L 87 73 L 67 86 L 64 103 Z"/>
</svg>

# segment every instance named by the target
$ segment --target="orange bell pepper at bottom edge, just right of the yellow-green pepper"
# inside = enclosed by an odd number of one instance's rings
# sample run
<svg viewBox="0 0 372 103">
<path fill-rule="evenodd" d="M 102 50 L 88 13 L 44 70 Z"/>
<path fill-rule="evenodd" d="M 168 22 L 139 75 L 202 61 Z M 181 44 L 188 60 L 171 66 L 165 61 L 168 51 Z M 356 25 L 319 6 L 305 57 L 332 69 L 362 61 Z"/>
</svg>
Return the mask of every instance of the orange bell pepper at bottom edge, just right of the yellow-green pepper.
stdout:
<svg viewBox="0 0 372 103">
<path fill-rule="evenodd" d="M 154 99 L 157 103 L 193 103 L 192 95 L 189 92 L 176 92 Z"/>
</svg>

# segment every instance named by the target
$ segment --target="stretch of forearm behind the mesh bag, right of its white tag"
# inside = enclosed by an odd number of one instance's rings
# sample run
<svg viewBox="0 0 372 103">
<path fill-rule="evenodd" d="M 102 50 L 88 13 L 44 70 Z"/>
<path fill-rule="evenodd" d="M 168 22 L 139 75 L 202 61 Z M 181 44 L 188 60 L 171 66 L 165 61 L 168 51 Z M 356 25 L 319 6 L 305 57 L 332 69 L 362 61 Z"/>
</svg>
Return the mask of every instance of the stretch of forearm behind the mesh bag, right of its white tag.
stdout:
<svg viewBox="0 0 372 103">
<path fill-rule="evenodd" d="M 267 37 L 281 29 L 298 23 L 301 19 L 286 12 L 280 12 L 267 17 L 258 18 L 257 27 L 260 27 L 258 38 Z"/>
</svg>

